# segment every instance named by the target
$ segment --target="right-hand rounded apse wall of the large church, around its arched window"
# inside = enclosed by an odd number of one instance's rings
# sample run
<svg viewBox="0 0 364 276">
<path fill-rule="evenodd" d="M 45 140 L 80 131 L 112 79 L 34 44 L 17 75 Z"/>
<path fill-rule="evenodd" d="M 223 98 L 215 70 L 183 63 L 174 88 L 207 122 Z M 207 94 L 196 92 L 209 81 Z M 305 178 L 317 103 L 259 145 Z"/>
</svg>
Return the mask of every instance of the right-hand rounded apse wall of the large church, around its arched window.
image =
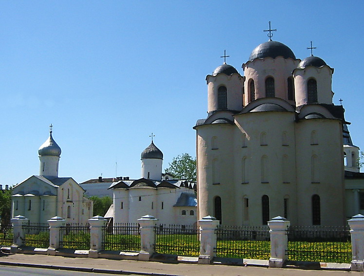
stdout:
<svg viewBox="0 0 364 276">
<path fill-rule="evenodd" d="M 341 121 L 301 120 L 295 129 L 298 224 L 312 225 L 312 195 L 317 194 L 321 225 L 342 225 L 345 206 Z M 312 162 L 314 159 L 316 163 Z"/>
</svg>

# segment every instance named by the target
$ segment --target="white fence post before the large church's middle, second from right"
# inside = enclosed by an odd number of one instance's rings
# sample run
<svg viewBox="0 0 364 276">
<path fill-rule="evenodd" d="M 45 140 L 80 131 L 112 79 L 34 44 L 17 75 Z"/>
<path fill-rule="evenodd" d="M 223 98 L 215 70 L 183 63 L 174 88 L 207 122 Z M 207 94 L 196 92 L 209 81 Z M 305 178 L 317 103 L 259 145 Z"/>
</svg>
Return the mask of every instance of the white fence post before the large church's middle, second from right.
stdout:
<svg viewBox="0 0 364 276">
<path fill-rule="evenodd" d="M 269 230 L 271 234 L 271 258 L 269 259 L 269 267 L 283 267 L 287 261 L 287 228 L 290 225 L 290 221 L 280 216 L 268 221 L 268 226 L 271 228 Z"/>
</svg>

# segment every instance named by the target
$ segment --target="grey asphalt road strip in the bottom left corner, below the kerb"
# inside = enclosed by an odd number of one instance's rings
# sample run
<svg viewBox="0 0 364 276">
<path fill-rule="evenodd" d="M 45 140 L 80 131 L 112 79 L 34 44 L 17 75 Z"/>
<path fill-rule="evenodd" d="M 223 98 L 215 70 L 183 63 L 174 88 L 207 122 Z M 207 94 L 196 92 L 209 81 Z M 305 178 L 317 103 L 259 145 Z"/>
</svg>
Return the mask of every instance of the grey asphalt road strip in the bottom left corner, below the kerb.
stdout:
<svg viewBox="0 0 364 276">
<path fill-rule="evenodd" d="M 110 276 L 105 273 L 77 272 L 69 270 L 56 270 L 47 268 L 31 268 L 19 266 L 0 265 L 1 276 Z M 132 274 L 130 276 L 136 276 Z"/>
</svg>

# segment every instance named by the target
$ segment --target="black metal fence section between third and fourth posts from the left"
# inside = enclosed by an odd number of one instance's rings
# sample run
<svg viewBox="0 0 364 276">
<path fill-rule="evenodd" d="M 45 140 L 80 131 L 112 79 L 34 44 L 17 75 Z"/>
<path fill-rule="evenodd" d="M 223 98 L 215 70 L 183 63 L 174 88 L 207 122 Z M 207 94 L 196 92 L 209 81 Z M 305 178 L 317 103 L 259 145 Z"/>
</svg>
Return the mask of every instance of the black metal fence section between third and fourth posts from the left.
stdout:
<svg viewBox="0 0 364 276">
<path fill-rule="evenodd" d="M 116 251 L 140 251 L 138 223 L 115 223 L 102 227 L 102 249 Z"/>
</svg>

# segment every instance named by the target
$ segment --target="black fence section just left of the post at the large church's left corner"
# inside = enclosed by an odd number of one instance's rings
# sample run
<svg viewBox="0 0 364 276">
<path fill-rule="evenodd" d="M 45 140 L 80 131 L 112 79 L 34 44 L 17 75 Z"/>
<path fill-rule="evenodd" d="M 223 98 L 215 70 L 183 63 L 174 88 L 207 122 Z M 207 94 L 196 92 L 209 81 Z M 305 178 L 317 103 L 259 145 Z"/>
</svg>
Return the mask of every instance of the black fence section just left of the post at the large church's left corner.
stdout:
<svg viewBox="0 0 364 276">
<path fill-rule="evenodd" d="M 154 251 L 179 256 L 200 255 L 200 230 L 196 226 L 161 224 L 154 227 Z"/>
</svg>

